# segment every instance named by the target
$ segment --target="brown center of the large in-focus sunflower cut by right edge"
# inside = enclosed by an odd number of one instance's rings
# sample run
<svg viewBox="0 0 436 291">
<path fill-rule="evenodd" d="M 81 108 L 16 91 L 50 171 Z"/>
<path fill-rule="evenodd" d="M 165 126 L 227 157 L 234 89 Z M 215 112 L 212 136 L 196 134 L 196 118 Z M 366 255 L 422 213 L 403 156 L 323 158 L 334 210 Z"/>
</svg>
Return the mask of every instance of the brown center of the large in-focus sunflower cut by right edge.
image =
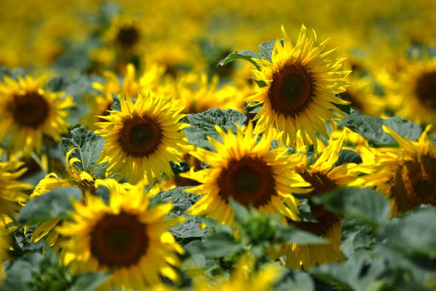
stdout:
<svg viewBox="0 0 436 291">
<path fill-rule="evenodd" d="M 391 196 L 399 213 L 421 204 L 436 206 L 436 159 L 426 155 L 404 162 L 395 173 Z"/>
</svg>

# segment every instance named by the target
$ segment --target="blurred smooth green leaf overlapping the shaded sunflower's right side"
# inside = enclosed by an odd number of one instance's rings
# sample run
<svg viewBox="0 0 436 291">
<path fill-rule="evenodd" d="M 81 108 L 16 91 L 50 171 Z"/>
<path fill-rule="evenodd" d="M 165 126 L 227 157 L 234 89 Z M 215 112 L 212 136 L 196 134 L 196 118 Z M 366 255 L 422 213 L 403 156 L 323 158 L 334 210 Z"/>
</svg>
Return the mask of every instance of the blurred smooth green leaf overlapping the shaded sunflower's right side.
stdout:
<svg viewBox="0 0 436 291">
<path fill-rule="evenodd" d="M 340 188 L 314 197 L 313 201 L 324 204 L 329 211 L 356 218 L 372 227 L 388 221 L 390 215 L 388 199 L 369 188 Z"/>
</svg>

